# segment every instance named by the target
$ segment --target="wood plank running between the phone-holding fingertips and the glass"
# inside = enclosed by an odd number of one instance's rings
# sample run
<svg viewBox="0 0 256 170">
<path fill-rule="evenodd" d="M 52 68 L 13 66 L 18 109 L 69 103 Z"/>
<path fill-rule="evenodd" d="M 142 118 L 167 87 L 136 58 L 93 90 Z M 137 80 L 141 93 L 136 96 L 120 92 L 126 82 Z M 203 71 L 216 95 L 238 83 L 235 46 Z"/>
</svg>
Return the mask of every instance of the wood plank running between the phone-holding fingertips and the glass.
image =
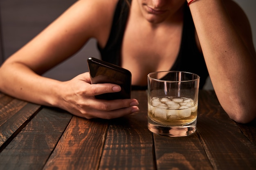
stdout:
<svg viewBox="0 0 256 170">
<path fill-rule="evenodd" d="M 132 91 L 139 100 L 139 113 L 112 119 L 108 129 L 101 164 L 105 170 L 153 170 L 155 168 L 152 134 L 147 128 L 145 91 Z"/>
</svg>

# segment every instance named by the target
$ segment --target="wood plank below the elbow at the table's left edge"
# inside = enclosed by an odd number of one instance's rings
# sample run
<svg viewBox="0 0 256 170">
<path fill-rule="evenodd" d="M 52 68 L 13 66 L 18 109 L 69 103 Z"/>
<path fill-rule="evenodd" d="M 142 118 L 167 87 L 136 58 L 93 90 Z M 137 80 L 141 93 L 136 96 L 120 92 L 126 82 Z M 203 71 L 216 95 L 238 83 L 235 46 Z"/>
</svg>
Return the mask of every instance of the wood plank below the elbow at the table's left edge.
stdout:
<svg viewBox="0 0 256 170">
<path fill-rule="evenodd" d="M 4 143 L 15 137 L 39 108 L 39 105 L 14 99 L 0 109 L 0 151 L 6 145 Z"/>
</svg>

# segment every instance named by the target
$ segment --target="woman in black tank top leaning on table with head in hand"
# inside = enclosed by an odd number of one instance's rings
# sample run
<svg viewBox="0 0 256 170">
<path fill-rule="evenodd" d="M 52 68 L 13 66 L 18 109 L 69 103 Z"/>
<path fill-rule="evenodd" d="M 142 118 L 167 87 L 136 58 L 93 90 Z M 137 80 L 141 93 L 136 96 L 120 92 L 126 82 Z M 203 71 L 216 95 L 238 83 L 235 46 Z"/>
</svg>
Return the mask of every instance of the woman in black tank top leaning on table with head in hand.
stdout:
<svg viewBox="0 0 256 170">
<path fill-rule="evenodd" d="M 98 41 L 103 60 L 131 71 L 134 86 L 145 86 L 150 72 L 175 69 L 198 73 L 202 87 L 209 72 L 231 119 L 247 123 L 256 117 L 252 33 L 231 0 L 79 0 L 4 62 L 0 91 L 88 119 L 137 112 L 136 99 L 95 99 L 120 87 L 90 84 L 88 73 L 67 82 L 40 76 L 90 38 Z"/>
</svg>

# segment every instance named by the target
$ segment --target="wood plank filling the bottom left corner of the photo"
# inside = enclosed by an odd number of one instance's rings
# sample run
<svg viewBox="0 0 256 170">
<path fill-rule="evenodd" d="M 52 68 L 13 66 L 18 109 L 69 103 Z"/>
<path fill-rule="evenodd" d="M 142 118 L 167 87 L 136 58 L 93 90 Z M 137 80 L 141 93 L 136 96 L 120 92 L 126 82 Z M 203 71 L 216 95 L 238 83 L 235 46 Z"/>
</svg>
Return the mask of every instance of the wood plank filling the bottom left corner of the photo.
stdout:
<svg viewBox="0 0 256 170">
<path fill-rule="evenodd" d="M 40 110 L 2 150 L 0 170 L 42 169 L 71 117 L 66 111 L 55 108 Z"/>
</svg>

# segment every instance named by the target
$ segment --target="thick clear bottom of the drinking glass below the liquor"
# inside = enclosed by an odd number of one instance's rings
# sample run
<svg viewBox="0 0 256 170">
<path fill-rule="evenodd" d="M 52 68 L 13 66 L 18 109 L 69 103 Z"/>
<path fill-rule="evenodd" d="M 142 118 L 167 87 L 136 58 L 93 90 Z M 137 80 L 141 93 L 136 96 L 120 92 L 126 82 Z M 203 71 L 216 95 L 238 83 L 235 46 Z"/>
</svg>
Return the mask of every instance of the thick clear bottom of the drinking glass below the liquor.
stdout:
<svg viewBox="0 0 256 170">
<path fill-rule="evenodd" d="M 148 129 L 153 133 L 170 137 L 189 136 L 195 133 L 196 119 L 190 124 L 177 126 L 160 124 L 148 117 Z"/>
</svg>

